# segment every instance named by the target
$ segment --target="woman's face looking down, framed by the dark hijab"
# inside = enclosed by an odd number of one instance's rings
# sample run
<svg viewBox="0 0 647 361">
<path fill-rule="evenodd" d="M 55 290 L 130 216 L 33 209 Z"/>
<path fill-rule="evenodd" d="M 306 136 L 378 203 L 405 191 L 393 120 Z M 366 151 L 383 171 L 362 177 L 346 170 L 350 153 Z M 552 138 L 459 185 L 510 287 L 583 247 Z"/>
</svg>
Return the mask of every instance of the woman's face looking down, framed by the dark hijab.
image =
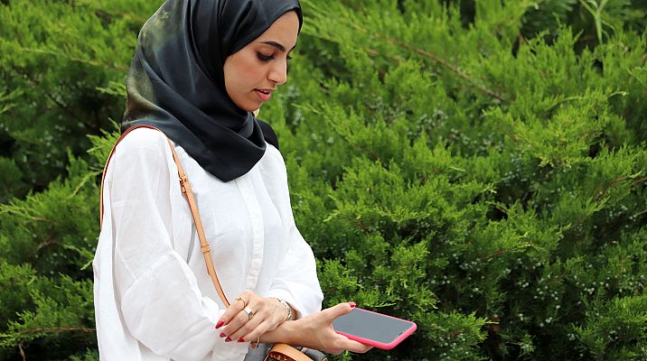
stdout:
<svg viewBox="0 0 647 361">
<path fill-rule="evenodd" d="M 277 84 L 286 82 L 288 55 L 295 48 L 298 31 L 298 16 L 287 12 L 225 60 L 225 88 L 234 104 L 254 111 L 269 100 Z"/>
</svg>

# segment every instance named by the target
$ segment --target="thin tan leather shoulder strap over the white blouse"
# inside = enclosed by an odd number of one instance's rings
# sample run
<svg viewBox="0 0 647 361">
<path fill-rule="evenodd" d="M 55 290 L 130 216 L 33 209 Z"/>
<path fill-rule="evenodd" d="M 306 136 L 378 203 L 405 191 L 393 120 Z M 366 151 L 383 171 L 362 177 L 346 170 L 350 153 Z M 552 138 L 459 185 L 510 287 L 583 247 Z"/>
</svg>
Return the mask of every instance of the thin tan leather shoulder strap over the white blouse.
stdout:
<svg viewBox="0 0 647 361">
<path fill-rule="evenodd" d="M 115 153 L 115 148 L 117 147 L 117 144 L 121 142 L 121 140 L 124 139 L 124 137 L 128 133 L 135 130 L 136 128 L 149 128 L 149 129 L 155 129 L 159 132 L 162 132 L 161 130 L 155 128 L 155 126 L 136 125 L 131 128 L 128 128 L 127 131 L 124 132 L 124 134 L 121 134 L 121 137 L 119 137 L 119 139 L 117 140 L 117 143 L 115 143 L 115 146 L 112 148 L 112 151 L 110 151 L 110 155 L 108 156 L 108 161 L 106 162 L 106 166 L 103 169 L 103 176 L 101 178 L 101 192 L 99 195 L 100 197 L 99 220 L 101 223 L 103 223 L 103 183 L 106 178 L 106 170 L 108 170 L 108 162 L 110 162 L 110 159 L 112 158 L 112 154 Z M 162 134 L 164 134 L 164 132 L 162 132 Z M 230 301 L 227 300 L 227 296 L 225 296 L 225 293 L 222 292 L 222 286 L 220 286 L 220 280 L 218 280 L 216 269 L 213 267 L 213 260 L 211 259 L 211 248 L 209 246 L 209 242 L 207 241 L 207 236 L 204 236 L 204 228 L 202 227 L 200 212 L 198 211 L 198 206 L 195 204 L 195 197 L 193 197 L 191 184 L 189 184 L 189 177 L 187 177 L 186 173 L 184 173 L 182 164 L 180 163 L 180 158 L 177 156 L 177 153 L 175 152 L 175 147 L 173 146 L 173 143 L 171 142 L 170 139 L 168 139 L 168 137 L 166 137 L 166 141 L 171 147 L 171 152 L 173 153 L 173 161 L 177 166 L 177 174 L 180 179 L 180 187 L 182 187 L 182 193 L 184 195 L 184 199 L 186 199 L 187 203 L 189 203 L 189 208 L 191 209 L 191 215 L 193 217 L 193 223 L 195 224 L 195 228 L 198 231 L 198 238 L 200 238 L 200 249 L 202 250 L 202 255 L 204 255 L 204 263 L 207 265 L 207 273 L 209 273 L 209 275 L 211 276 L 211 282 L 213 282 L 213 286 L 216 288 L 216 292 L 218 292 L 218 295 L 220 296 L 220 300 L 225 305 L 225 307 L 229 307 Z"/>
</svg>

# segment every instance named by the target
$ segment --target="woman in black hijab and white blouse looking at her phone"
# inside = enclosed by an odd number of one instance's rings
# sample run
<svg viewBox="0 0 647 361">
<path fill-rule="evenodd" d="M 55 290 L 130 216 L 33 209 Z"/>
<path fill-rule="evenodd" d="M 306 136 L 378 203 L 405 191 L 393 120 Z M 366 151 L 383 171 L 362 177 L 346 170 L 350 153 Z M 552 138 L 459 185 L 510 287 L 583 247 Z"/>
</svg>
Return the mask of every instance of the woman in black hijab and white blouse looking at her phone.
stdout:
<svg viewBox="0 0 647 361">
<path fill-rule="evenodd" d="M 166 137 L 137 128 L 104 174 L 93 264 L 102 359 L 242 360 L 251 341 L 369 348 L 332 329 L 352 306 L 319 312 L 285 163 L 252 113 L 286 82 L 302 22 L 297 0 L 168 0 L 145 23 L 122 129 L 152 125 L 173 141 L 222 288 L 238 297 L 225 309 L 205 271 Z"/>
</svg>

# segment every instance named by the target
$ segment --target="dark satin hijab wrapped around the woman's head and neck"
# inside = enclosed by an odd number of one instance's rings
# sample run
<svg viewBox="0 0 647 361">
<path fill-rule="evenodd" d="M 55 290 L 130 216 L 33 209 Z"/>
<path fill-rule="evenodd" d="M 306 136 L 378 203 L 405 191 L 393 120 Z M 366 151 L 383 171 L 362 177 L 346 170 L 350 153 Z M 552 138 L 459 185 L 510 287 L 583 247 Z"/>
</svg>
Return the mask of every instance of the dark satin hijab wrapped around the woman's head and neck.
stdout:
<svg viewBox="0 0 647 361">
<path fill-rule="evenodd" d="M 231 101 L 222 66 L 291 10 L 300 28 L 298 0 L 167 0 L 139 32 L 122 131 L 153 125 L 220 180 L 247 173 L 266 139 Z"/>
</svg>

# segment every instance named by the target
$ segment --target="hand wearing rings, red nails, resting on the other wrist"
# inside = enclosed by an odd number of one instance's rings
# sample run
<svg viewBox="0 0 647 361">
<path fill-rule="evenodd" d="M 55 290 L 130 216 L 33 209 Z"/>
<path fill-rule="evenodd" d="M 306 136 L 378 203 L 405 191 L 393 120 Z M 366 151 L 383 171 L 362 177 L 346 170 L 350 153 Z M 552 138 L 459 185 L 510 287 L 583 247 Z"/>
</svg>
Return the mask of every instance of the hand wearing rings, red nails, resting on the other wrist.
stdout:
<svg viewBox="0 0 647 361">
<path fill-rule="evenodd" d="M 248 312 L 251 312 L 251 317 Z M 267 331 L 277 329 L 286 317 L 286 307 L 277 299 L 243 292 L 222 314 L 216 329 L 220 329 L 220 337 L 227 342 L 250 342 Z"/>
</svg>

